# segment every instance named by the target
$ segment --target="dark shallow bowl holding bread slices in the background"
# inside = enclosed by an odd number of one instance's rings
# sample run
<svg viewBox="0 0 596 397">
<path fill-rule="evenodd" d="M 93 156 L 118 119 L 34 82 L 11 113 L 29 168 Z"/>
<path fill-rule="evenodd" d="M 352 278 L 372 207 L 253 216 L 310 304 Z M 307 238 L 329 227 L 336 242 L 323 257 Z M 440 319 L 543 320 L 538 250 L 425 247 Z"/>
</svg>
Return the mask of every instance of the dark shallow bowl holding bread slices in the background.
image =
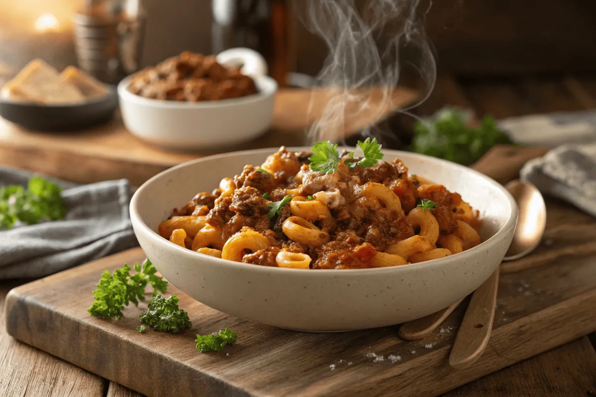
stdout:
<svg viewBox="0 0 596 397">
<path fill-rule="evenodd" d="M 21 127 L 41 131 L 72 131 L 110 121 L 118 107 L 116 87 L 101 98 L 81 104 L 39 105 L 0 99 L 0 116 Z"/>
</svg>

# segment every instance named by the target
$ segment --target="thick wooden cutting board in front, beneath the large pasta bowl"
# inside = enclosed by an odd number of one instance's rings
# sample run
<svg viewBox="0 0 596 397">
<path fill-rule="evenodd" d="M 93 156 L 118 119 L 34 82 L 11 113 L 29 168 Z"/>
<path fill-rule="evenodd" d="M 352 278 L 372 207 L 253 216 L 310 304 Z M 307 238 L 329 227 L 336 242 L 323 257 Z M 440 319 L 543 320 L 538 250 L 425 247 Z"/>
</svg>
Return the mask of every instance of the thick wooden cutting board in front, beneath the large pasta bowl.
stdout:
<svg viewBox="0 0 596 397">
<path fill-rule="evenodd" d="M 504 164 L 504 156 L 514 164 L 526 155 L 499 147 L 488 156 L 496 164 Z M 179 335 L 136 332 L 145 303 L 126 308 L 120 321 L 90 317 L 86 308 L 101 273 L 143 260 L 141 249 L 17 287 L 7 296 L 7 329 L 148 396 L 436 396 L 596 330 L 596 221 L 552 199 L 547 209 L 538 249 L 501 266 L 488 348 L 462 371 L 449 367 L 448 355 L 467 303 L 433 335 L 413 342 L 398 337 L 398 326 L 346 333 L 263 326 L 212 310 L 173 286 L 169 293 L 181 298 L 193 321 Z M 195 351 L 195 333 L 225 327 L 238 333 L 236 345 L 224 353 Z"/>
</svg>

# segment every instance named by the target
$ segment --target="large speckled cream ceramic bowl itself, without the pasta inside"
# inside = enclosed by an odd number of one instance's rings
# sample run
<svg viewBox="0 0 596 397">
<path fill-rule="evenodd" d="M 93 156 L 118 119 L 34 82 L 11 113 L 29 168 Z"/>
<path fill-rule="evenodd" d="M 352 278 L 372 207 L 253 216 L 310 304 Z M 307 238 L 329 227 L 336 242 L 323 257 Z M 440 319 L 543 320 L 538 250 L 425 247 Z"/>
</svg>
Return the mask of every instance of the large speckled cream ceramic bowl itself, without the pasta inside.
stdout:
<svg viewBox="0 0 596 397">
<path fill-rule="evenodd" d="M 291 148 L 307 150 L 310 148 Z M 211 191 L 245 164 L 277 149 L 234 152 L 186 162 L 144 183 L 131 218 L 147 257 L 166 279 L 197 301 L 258 323 L 296 330 L 344 331 L 399 324 L 447 307 L 473 292 L 507 251 L 517 206 L 504 187 L 470 168 L 419 154 L 384 151 L 418 174 L 461 194 L 480 210 L 483 243 L 419 264 L 358 270 L 300 270 L 249 265 L 197 254 L 155 230 L 174 207 Z"/>
</svg>

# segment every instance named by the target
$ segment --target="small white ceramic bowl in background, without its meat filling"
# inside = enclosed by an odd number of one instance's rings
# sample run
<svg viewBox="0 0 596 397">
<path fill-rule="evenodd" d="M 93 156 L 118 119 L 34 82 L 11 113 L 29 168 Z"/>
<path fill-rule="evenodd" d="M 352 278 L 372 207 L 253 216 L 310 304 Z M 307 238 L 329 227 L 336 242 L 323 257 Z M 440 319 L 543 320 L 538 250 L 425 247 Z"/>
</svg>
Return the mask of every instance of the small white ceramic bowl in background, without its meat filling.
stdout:
<svg viewBox="0 0 596 397">
<path fill-rule="evenodd" d="M 126 129 L 154 145 L 181 150 L 231 146 L 265 132 L 271 126 L 277 83 L 265 75 L 265 60 L 259 54 L 248 49 L 232 50 L 219 54 L 218 60 L 246 60 L 242 70 L 253 77 L 258 93 L 222 101 L 162 101 L 130 92 L 128 86 L 134 76 L 129 76 L 118 85 Z"/>
</svg>

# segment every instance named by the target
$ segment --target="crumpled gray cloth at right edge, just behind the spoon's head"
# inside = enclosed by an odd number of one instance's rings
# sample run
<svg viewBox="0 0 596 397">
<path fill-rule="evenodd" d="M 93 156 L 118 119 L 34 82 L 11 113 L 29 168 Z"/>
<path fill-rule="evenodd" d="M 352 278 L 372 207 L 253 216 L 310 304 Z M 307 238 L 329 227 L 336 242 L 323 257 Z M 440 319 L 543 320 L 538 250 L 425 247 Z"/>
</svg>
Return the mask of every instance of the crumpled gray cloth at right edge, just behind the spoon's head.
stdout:
<svg viewBox="0 0 596 397">
<path fill-rule="evenodd" d="M 541 192 L 596 217 L 596 144 L 560 146 L 528 161 L 520 175 Z"/>
</svg>

